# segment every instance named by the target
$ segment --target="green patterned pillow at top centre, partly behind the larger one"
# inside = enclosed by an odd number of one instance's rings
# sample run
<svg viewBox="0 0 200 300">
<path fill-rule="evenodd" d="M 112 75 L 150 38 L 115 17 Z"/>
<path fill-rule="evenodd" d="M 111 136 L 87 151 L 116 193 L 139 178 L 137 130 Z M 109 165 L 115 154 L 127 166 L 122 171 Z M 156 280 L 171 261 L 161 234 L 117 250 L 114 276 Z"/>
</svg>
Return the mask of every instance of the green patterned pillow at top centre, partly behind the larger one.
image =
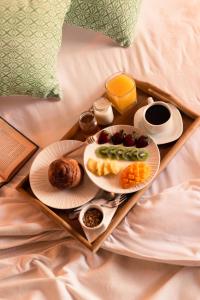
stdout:
<svg viewBox="0 0 200 300">
<path fill-rule="evenodd" d="M 65 21 L 100 31 L 121 46 L 131 45 L 141 0 L 71 0 Z"/>
</svg>

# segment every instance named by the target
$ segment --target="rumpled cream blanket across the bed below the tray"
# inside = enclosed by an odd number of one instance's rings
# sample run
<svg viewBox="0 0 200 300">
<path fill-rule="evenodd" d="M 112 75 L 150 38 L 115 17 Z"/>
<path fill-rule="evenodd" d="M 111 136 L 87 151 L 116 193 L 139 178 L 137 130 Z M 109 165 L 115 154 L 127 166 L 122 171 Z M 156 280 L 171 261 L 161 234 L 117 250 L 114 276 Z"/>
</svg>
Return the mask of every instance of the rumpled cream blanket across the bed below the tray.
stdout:
<svg viewBox="0 0 200 300">
<path fill-rule="evenodd" d="M 97 254 L 28 200 L 1 191 L 1 299 L 198 299 L 199 179 L 144 196 Z"/>
</svg>

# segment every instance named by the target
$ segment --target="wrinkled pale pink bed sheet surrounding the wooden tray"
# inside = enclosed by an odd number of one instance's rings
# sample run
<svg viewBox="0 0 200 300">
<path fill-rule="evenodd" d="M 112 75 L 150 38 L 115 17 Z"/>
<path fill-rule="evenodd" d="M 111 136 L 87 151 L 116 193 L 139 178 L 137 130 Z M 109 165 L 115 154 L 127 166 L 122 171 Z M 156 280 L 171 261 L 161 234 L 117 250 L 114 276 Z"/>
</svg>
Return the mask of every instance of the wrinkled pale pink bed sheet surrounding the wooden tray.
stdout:
<svg viewBox="0 0 200 300">
<path fill-rule="evenodd" d="M 128 49 L 65 25 L 58 61 L 62 100 L 3 98 L 1 115 L 44 147 L 119 70 L 200 113 L 199 8 L 198 0 L 143 0 Z M 197 129 L 97 254 L 14 190 L 27 164 L 0 190 L 0 299 L 199 299 L 199 140 Z"/>
</svg>

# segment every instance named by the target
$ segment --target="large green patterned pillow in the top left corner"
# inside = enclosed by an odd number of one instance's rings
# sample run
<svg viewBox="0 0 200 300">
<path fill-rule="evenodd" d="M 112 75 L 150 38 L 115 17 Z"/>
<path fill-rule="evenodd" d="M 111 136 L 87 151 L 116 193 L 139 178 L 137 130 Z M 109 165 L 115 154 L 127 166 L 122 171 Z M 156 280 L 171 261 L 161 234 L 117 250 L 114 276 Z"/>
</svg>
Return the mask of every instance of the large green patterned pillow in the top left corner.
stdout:
<svg viewBox="0 0 200 300">
<path fill-rule="evenodd" d="M 58 96 L 57 54 L 71 0 L 0 0 L 0 95 Z"/>
</svg>

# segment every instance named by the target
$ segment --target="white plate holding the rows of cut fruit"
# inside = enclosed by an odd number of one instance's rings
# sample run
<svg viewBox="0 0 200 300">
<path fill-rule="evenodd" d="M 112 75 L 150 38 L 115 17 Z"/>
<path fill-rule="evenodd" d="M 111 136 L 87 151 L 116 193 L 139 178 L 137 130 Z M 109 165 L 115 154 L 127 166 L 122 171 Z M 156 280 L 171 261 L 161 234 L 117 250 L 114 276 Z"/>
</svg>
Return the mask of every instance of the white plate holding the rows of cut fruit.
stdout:
<svg viewBox="0 0 200 300">
<path fill-rule="evenodd" d="M 133 126 L 129 125 L 116 125 L 116 126 L 111 126 L 107 127 L 105 130 L 110 132 L 111 134 L 114 134 L 117 131 L 120 131 L 124 129 L 126 133 L 132 133 L 133 131 L 136 131 L 137 133 L 141 133 L 140 130 L 134 128 Z M 111 145 L 111 144 L 104 144 L 104 145 Z M 145 182 L 138 184 L 137 186 L 134 186 L 129 189 L 123 189 L 119 186 L 119 174 L 114 176 L 96 176 L 93 173 L 91 173 L 87 169 L 87 161 L 89 158 L 97 159 L 97 156 L 95 154 L 96 148 L 100 147 L 102 145 L 99 145 L 97 143 L 90 144 L 86 147 L 85 152 L 84 152 L 84 166 L 85 170 L 90 177 L 90 179 L 98 185 L 100 188 L 103 190 L 109 191 L 109 192 L 114 192 L 114 193 L 133 193 L 136 192 L 143 187 L 145 187 L 147 184 L 149 184 L 155 175 L 158 172 L 159 166 L 160 166 L 160 152 L 158 149 L 158 146 L 155 144 L 155 142 L 150 138 L 150 143 L 147 147 L 144 149 L 148 151 L 149 157 L 146 160 L 146 162 L 151 166 L 151 176 L 146 180 Z M 100 159 L 100 158 L 98 158 Z M 101 160 L 101 159 L 100 159 Z M 103 160 L 103 159 L 102 159 Z M 130 161 L 118 161 L 119 164 L 121 164 L 122 168 L 125 168 L 127 165 L 129 165 Z"/>
</svg>

